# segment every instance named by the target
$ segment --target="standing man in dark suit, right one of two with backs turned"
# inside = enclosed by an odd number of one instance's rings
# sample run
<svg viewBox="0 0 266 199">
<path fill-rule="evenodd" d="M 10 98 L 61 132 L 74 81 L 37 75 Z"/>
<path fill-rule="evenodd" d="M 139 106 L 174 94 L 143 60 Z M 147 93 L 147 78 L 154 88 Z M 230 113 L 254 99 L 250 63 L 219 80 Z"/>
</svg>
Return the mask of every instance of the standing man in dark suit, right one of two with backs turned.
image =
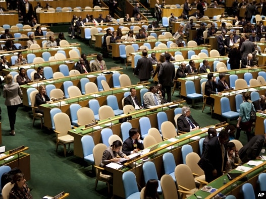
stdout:
<svg viewBox="0 0 266 199">
<path fill-rule="evenodd" d="M 166 61 L 161 64 L 158 80 L 163 85 L 163 90 L 166 90 L 167 101 L 171 102 L 171 88 L 173 87 L 173 80 L 175 77 L 175 65 L 170 62 L 171 55 L 165 54 Z"/>
</svg>

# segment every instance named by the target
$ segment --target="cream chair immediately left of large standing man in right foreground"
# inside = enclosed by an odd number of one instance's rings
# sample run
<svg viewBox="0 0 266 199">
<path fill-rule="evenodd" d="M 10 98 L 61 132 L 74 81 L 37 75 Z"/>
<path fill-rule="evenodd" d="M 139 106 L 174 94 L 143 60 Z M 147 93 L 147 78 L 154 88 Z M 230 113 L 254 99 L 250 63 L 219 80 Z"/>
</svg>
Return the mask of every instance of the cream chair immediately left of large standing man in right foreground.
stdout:
<svg viewBox="0 0 266 199">
<path fill-rule="evenodd" d="M 200 186 L 202 186 L 201 182 L 205 181 L 205 175 L 204 175 L 204 171 L 197 164 L 199 160 L 200 160 L 200 157 L 195 152 L 191 152 L 187 154 L 186 156 L 186 165 L 189 166 L 189 168 L 191 169 L 194 175 L 195 182 L 197 184 L 200 184 Z"/>
</svg>

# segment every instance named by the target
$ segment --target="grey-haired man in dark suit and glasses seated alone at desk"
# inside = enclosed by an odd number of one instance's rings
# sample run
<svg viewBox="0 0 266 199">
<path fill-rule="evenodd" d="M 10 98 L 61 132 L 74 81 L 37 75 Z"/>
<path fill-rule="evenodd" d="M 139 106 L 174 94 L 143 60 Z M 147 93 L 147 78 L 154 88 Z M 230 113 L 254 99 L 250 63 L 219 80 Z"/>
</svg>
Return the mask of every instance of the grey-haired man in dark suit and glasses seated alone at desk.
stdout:
<svg viewBox="0 0 266 199">
<path fill-rule="evenodd" d="M 177 119 L 178 130 L 190 132 L 199 129 L 199 124 L 193 119 L 190 113 L 191 111 L 188 106 L 182 107 L 182 115 Z"/>
</svg>

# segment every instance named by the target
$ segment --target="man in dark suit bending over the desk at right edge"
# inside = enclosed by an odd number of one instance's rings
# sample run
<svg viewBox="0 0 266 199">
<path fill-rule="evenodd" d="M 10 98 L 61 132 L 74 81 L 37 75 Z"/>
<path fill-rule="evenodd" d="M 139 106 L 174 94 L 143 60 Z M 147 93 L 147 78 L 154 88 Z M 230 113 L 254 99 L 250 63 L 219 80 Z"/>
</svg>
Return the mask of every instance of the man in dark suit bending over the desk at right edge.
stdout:
<svg viewBox="0 0 266 199">
<path fill-rule="evenodd" d="M 246 145 L 244 145 L 239 150 L 238 154 L 243 163 L 246 163 L 249 160 L 261 159 L 259 153 L 265 143 L 265 137 L 266 134 L 254 136 Z"/>
</svg>

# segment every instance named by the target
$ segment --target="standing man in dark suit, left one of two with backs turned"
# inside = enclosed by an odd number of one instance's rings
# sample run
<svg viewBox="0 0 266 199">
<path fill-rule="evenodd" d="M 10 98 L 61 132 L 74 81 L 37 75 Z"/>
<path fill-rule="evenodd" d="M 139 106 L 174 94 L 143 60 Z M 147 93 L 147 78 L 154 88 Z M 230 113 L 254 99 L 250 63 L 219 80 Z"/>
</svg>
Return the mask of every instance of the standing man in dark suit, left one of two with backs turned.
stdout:
<svg viewBox="0 0 266 199">
<path fill-rule="evenodd" d="M 137 67 L 134 71 L 134 75 L 138 75 L 140 82 L 148 81 L 150 79 L 150 73 L 153 72 L 151 60 L 147 58 L 147 50 L 142 50 L 142 57 L 137 62 Z"/>
</svg>

